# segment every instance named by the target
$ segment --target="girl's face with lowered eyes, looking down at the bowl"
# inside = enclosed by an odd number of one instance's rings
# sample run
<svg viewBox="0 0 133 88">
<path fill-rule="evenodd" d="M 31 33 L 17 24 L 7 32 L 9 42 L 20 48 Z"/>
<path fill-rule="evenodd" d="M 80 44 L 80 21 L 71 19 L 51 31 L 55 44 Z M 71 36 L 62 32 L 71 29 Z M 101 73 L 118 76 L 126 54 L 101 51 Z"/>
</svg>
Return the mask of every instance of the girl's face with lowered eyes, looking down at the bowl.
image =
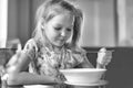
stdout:
<svg viewBox="0 0 133 88">
<path fill-rule="evenodd" d="M 62 46 L 73 33 L 73 15 L 62 13 L 48 21 L 44 33 L 50 43 Z"/>
</svg>

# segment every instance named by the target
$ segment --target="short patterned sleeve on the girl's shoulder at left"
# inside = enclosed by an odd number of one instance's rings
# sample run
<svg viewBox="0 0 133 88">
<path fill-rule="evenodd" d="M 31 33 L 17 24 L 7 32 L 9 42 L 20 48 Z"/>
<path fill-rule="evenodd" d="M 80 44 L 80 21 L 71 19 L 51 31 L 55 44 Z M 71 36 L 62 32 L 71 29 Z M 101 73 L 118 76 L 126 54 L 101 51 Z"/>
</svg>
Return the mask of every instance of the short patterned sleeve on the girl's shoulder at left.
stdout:
<svg viewBox="0 0 133 88">
<path fill-rule="evenodd" d="M 35 56 L 37 56 L 37 51 L 38 51 L 38 47 L 37 47 L 37 44 L 34 42 L 33 38 L 30 38 L 24 47 L 23 47 L 23 53 L 27 54 L 31 59 L 33 59 Z"/>
</svg>

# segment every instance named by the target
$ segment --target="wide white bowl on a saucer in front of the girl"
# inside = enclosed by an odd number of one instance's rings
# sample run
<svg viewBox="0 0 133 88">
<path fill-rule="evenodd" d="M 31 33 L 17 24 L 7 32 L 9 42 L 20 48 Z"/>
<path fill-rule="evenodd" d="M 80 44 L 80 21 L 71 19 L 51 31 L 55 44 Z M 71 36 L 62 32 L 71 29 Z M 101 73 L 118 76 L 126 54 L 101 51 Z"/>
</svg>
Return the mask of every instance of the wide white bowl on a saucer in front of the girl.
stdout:
<svg viewBox="0 0 133 88">
<path fill-rule="evenodd" d="M 106 69 L 102 68 L 72 68 L 60 69 L 66 81 L 73 84 L 92 84 L 101 79 Z"/>
</svg>

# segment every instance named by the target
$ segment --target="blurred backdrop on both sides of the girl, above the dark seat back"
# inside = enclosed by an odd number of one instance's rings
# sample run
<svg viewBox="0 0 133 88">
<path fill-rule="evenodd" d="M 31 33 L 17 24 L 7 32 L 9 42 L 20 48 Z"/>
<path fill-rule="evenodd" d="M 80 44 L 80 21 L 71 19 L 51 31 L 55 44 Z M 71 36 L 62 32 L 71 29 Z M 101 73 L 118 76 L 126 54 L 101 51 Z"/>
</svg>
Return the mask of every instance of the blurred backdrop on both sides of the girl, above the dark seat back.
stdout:
<svg viewBox="0 0 133 88">
<path fill-rule="evenodd" d="M 34 30 L 34 14 L 44 0 L 0 0 L 0 45 L 22 45 Z M 84 12 L 81 46 L 133 46 L 133 0 L 71 0 Z M 2 42 L 1 42 L 2 41 Z"/>
</svg>

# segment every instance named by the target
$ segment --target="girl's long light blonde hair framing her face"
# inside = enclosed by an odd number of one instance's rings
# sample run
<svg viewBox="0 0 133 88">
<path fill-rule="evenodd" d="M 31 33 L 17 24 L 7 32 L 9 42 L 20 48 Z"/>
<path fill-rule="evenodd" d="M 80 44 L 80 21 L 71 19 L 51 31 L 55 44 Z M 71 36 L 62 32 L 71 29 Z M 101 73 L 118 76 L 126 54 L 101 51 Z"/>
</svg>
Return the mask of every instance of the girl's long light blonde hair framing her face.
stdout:
<svg viewBox="0 0 133 88">
<path fill-rule="evenodd" d="M 82 11 L 75 8 L 73 4 L 65 0 L 45 0 L 42 3 L 35 14 L 35 30 L 33 32 L 33 37 L 37 41 L 45 42 L 42 34 L 42 19 L 48 22 L 50 21 L 55 14 L 69 11 L 74 15 L 74 25 L 73 25 L 73 34 L 69 46 L 76 46 L 79 37 L 81 35 L 81 25 L 82 25 Z"/>
</svg>

